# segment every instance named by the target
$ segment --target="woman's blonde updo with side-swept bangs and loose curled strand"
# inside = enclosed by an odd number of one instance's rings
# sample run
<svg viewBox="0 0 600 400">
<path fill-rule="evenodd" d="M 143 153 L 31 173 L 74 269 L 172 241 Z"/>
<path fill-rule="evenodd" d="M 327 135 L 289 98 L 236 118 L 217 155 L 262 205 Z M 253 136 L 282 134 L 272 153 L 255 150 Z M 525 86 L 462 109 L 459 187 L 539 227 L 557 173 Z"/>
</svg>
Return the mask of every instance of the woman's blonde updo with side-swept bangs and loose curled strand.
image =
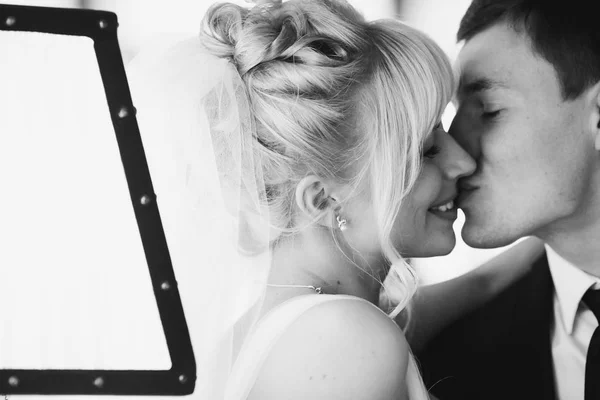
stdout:
<svg viewBox="0 0 600 400">
<path fill-rule="evenodd" d="M 391 240 L 420 172 L 422 144 L 450 101 L 452 68 L 424 33 L 396 20 L 367 22 L 344 1 L 290 0 L 271 8 L 216 4 L 205 46 L 229 58 L 256 118 L 271 218 L 294 232 L 294 191 L 307 174 L 361 187 L 368 178 L 381 251 L 402 283 L 416 276 Z"/>
</svg>

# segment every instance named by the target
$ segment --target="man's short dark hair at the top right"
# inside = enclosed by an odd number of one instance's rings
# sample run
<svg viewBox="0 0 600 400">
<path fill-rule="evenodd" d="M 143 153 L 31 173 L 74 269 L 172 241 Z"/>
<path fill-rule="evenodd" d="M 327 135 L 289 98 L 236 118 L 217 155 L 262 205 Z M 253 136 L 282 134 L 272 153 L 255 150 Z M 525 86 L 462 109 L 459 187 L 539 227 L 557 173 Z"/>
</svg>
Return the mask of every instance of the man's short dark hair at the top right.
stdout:
<svg viewBox="0 0 600 400">
<path fill-rule="evenodd" d="M 597 0 L 473 0 L 457 41 L 505 22 L 525 33 L 533 51 L 554 66 L 564 99 L 600 81 L 600 14 Z"/>
</svg>

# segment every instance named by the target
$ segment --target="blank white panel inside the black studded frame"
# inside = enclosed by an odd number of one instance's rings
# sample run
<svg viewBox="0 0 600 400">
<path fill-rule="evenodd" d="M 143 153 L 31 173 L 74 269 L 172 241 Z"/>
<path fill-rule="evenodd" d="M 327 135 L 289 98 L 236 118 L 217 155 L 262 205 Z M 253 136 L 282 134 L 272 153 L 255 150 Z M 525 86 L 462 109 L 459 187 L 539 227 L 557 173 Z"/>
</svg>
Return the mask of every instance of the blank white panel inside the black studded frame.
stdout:
<svg viewBox="0 0 600 400">
<path fill-rule="evenodd" d="M 168 369 L 93 42 L 0 53 L 0 368 Z"/>
</svg>

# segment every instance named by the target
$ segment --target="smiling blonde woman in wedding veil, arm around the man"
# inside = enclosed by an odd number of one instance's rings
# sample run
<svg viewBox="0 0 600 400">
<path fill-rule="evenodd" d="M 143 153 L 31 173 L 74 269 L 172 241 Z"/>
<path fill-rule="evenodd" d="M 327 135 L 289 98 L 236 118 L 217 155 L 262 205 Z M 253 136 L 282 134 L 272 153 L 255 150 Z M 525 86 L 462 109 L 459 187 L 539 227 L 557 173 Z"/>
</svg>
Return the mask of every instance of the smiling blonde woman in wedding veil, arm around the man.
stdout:
<svg viewBox="0 0 600 400">
<path fill-rule="evenodd" d="M 217 4 L 200 37 L 142 52 L 130 80 L 186 317 L 200 321 L 201 398 L 425 399 L 411 345 L 541 249 L 415 296 L 408 260 L 452 250 L 456 183 L 475 163 L 440 122 L 448 59 L 399 21 L 366 22 L 342 0 Z M 396 304 L 379 301 L 386 277 Z"/>
</svg>

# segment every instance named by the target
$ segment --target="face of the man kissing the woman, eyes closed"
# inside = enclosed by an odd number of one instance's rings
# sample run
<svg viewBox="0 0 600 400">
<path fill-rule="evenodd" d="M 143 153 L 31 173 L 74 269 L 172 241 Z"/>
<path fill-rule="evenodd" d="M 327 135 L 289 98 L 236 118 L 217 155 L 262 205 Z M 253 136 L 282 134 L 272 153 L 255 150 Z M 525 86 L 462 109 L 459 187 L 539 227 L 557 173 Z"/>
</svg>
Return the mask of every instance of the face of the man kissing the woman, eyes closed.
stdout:
<svg viewBox="0 0 600 400">
<path fill-rule="evenodd" d="M 532 51 L 525 34 L 503 23 L 467 41 L 458 63 L 450 134 L 477 162 L 459 183 L 463 239 L 497 247 L 543 237 L 586 196 L 595 157 L 586 133 L 588 102 L 563 100 L 552 65 Z"/>
</svg>

